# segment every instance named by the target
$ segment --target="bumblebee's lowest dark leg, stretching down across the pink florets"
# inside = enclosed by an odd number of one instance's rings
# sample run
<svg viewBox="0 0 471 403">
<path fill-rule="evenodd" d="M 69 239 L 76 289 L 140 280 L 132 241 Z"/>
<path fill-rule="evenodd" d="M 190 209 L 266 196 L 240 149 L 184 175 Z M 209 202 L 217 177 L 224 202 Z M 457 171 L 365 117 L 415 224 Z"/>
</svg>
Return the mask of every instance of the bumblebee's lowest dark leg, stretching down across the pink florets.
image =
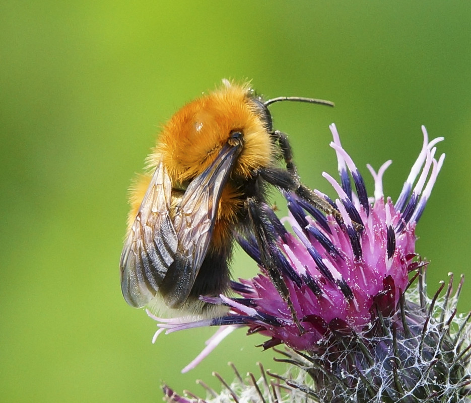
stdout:
<svg viewBox="0 0 471 403">
<path fill-rule="evenodd" d="M 276 264 L 277 247 L 275 245 L 274 237 L 276 231 L 273 228 L 273 224 L 267 214 L 263 211 L 263 208 L 261 207 L 262 203 L 260 201 L 257 202 L 252 198 L 248 198 L 246 203 L 247 211 L 253 225 L 255 239 L 257 240 L 261 262 L 268 272 L 270 279 L 273 281 L 278 293 L 288 303 L 291 315 L 298 327 L 299 333 L 303 334 L 304 328 L 301 326 L 296 315 L 296 310 L 291 301 L 289 290 L 283 279 L 279 265 Z"/>
</svg>

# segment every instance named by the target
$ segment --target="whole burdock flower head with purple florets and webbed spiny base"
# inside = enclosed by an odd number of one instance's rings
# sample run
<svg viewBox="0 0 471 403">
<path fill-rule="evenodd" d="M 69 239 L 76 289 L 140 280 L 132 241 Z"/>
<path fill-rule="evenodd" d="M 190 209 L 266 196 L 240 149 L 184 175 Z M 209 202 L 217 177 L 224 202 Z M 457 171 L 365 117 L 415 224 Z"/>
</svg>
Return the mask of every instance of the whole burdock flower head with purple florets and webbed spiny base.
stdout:
<svg viewBox="0 0 471 403">
<path fill-rule="evenodd" d="M 283 394 L 280 390 L 290 399 L 298 399 L 295 396 L 301 393 L 303 399 L 333 402 L 466 399 L 469 315 L 456 316 L 462 280 L 453 293 L 450 276 L 445 291 L 443 283 L 429 299 L 427 262 L 415 251 L 416 224 L 445 156 L 435 157 L 435 145 L 442 138 L 429 141 L 422 127 L 422 150 L 393 201 L 382 190 L 382 176 L 391 162 L 377 173 L 368 166 L 375 183 L 374 196 L 368 197 L 337 129 L 334 125 L 330 129 L 340 183 L 324 173 L 337 198 L 322 196 L 337 214 L 324 215 L 290 193 L 285 194 L 289 216 L 282 221 L 271 207 L 262 206 L 267 217 L 265 236 L 238 239 L 258 263 L 259 274 L 232 283 L 237 297 L 204 298 L 227 306 L 227 314 L 196 321 L 156 318 L 158 333 L 221 327 L 185 370 L 239 327 L 266 336 L 265 349 L 284 344 L 284 360 L 300 368 L 302 375 L 294 375 L 293 370 L 286 376 L 270 374 L 277 387 L 267 388 L 272 390 L 267 398 L 275 400 Z M 276 266 L 285 292 L 280 292 L 267 261 Z M 265 374 L 262 378 L 266 383 Z M 238 379 L 237 384 L 243 385 Z M 238 392 L 227 387 L 237 400 Z M 165 391 L 174 401 L 187 400 L 169 388 Z"/>
</svg>

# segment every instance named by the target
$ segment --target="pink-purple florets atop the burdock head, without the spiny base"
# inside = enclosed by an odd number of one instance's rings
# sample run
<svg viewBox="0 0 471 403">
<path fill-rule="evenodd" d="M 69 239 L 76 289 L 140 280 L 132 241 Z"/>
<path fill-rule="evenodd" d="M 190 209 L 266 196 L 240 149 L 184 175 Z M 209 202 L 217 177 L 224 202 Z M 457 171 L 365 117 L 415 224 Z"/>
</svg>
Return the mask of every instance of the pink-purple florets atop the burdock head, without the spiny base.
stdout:
<svg viewBox="0 0 471 403">
<path fill-rule="evenodd" d="M 355 332 L 365 329 L 376 315 L 373 305 L 383 315 L 395 311 L 409 282 L 408 274 L 423 264 L 415 260 L 415 226 L 445 157 L 442 154 L 438 161 L 434 158 L 434 145 L 443 138 L 429 142 L 422 127 L 422 150 L 394 204 L 382 194 L 382 175 L 391 162 L 385 163 L 377 174 L 369 167 L 375 181 L 375 196 L 369 200 L 363 178 L 342 148 L 333 124 L 330 130 L 333 135 L 330 145 L 337 153 L 342 185 L 326 173 L 323 176 L 338 194 L 335 206 L 343 222 L 333 216 L 325 217 L 294 194 L 286 194 L 290 214 L 284 221 L 291 225 L 293 234 L 265 206 L 277 233 L 271 249 L 289 289 L 296 317 L 260 266 L 256 277 L 232 283 L 239 298 L 224 295 L 204 298 L 227 305 L 230 310 L 226 316 L 189 323 L 181 318 L 155 317 L 160 328 L 169 333 L 195 326 L 246 326 L 249 333 L 270 337 L 264 348 L 284 343 L 296 350 L 315 351 L 330 328 Z M 352 192 L 349 172 L 356 193 Z M 261 265 L 256 240 L 239 238 L 239 243 Z M 298 323 L 303 328 L 301 334 Z"/>
</svg>

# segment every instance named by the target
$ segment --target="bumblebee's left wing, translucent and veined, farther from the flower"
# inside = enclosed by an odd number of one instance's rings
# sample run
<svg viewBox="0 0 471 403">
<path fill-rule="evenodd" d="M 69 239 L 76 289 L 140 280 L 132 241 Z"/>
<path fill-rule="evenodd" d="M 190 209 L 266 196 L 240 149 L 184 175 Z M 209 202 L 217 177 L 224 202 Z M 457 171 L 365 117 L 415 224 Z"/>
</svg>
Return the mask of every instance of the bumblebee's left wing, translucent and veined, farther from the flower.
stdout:
<svg viewBox="0 0 471 403">
<path fill-rule="evenodd" d="M 152 177 L 121 253 L 121 291 L 134 307 L 146 305 L 159 290 L 177 253 L 170 218 L 172 180 L 160 163 Z"/>
</svg>

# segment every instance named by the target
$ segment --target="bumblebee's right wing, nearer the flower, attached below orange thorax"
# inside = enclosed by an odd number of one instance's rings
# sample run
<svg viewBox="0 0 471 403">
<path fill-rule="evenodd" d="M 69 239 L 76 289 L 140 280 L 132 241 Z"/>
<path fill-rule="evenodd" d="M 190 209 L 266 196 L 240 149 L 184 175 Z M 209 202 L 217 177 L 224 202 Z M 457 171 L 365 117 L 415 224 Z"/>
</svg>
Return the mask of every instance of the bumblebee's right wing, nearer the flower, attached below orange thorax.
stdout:
<svg viewBox="0 0 471 403">
<path fill-rule="evenodd" d="M 222 190 L 239 152 L 239 147 L 225 145 L 213 164 L 191 181 L 183 195 L 173 221 L 178 253 L 161 285 L 169 307 L 180 307 L 191 292 L 211 243 Z"/>
</svg>

